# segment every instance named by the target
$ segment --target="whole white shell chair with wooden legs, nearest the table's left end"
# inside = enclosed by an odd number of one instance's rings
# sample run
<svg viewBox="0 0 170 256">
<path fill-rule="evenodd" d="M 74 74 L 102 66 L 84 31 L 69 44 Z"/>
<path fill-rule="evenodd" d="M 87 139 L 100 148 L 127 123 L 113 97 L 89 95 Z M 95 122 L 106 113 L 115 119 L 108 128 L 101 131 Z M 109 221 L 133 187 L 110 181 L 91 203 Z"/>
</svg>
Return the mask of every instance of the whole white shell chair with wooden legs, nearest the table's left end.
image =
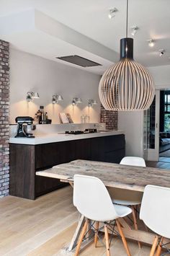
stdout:
<svg viewBox="0 0 170 256">
<path fill-rule="evenodd" d="M 96 232 L 94 235 L 95 246 L 97 244 L 97 230 L 99 229 L 99 221 L 104 222 L 104 235 L 106 241 L 107 256 L 110 255 L 107 221 L 115 220 L 117 229 L 119 230 L 120 236 L 122 237 L 125 250 L 130 256 L 128 244 L 122 232 L 122 227 L 118 221 L 118 218 L 127 216 L 132 212 L 132 210 L 126 206 L 114 205 L 112 203 L 112 199 L 109 196 L 107 188 L 104 186 L 101 180 L 99 180 L 97 177 L 74 175 L 73 204 L 76 206 L 79 213 L 86 217 L 86 221 L 76 247 L 76 256 L 79 255 L 81 242 L 84 238 L 84 234 L 86 233 L 89 220 L 96 221 Z"/>
</svg>

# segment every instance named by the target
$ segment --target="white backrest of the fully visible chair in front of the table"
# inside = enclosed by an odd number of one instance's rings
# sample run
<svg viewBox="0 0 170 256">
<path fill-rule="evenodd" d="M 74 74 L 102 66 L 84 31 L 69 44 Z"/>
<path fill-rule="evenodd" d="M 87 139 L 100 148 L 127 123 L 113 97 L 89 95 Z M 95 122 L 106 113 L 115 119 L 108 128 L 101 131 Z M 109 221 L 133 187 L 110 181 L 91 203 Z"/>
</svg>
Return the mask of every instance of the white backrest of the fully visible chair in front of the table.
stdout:
<svg viewBox="0 0 170 256">
<path fill-rule="evenodd" d="M 81 214 L 94 221 L 117 218 L 107 188 L 97 177 L 74 175 L 73 204 Z"/>
</svg>

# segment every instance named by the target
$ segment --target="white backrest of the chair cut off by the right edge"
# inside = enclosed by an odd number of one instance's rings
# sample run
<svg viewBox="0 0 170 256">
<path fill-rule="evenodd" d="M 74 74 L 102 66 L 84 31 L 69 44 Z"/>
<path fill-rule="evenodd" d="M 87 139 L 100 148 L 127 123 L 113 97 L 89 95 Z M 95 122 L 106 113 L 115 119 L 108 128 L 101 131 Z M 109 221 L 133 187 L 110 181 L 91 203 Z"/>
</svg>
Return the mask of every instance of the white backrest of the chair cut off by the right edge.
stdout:
<svg viewBox="0 0 170 256">
<path fill-rule="evenodd" d="M 170 239 L 170 188 L 147 185 L 140 207 L 140 219 L 152 231 Z"/>
</svg>

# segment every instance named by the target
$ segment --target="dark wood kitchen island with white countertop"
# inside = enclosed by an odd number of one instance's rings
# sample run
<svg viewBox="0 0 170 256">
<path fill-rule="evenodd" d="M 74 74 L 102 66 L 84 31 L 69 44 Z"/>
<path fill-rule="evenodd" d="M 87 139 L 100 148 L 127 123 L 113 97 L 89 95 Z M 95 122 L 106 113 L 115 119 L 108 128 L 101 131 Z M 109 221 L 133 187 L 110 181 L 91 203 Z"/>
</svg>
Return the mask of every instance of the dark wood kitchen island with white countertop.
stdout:
<svg viewBox="0 0 170 256">
<path fill-rule="evenodd" d="M 35 138 L 10 138 L 9 194 L 34 200 L 66 184 L 35 172 L 76 159 L 119 163 L 125 156 L 122 131 L 70 135 L 41 134 Z"/>
</svg>

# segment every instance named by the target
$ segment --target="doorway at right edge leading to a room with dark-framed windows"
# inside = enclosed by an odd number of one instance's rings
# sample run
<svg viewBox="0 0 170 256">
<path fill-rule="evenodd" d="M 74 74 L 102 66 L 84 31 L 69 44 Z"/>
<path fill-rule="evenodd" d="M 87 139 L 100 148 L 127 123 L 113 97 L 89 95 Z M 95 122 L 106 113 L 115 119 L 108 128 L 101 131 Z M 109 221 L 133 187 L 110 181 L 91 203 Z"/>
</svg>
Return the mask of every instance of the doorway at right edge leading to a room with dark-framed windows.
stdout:
<svg viewBox="0 0 170 256">
<path fill-rule="evenodd" d="M 156 89 L 151 107 L 144 111 L 144 158 L 170 164 L 170 89 Z"/>
</svg>

